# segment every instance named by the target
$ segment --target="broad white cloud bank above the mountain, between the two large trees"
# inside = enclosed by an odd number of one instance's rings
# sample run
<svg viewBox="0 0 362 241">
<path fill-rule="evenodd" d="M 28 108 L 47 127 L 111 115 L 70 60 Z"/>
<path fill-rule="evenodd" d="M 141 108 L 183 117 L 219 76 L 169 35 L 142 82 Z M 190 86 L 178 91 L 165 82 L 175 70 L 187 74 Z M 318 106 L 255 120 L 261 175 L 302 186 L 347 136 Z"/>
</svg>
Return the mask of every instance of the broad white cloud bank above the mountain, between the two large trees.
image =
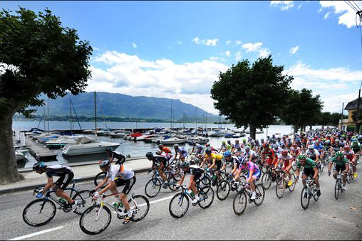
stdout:
<svg viewBox="0 0 362 241">
<path fill-rule="evenodd" d="M 143 60 L 136 55 L 108 51 L 91 59 L 92 78 L 86 91 L 105 91 L 133 96 L 177 98 L 217 114 L 210 89 L 219 71 L 229 66 L 212 57 L 195 63 L 176 64 L 172 60 Z M 105 70 L 97 68 L 102 63 Z"/>
</svg>

